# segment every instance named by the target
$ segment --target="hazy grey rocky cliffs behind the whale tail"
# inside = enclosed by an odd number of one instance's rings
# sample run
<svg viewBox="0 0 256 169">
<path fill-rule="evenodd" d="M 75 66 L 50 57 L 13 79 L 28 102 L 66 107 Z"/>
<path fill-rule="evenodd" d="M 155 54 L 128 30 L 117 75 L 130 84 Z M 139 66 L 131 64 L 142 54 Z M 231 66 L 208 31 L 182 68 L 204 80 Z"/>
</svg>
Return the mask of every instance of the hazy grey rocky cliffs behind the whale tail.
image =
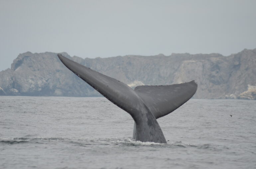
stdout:
<svg viewBox="0 0 256 169">
<path fill-rule="evenodd" d="M 194 98 L 256 99 L 256 49 L 226 57 L 185 53 L 82 59 L 62 55 L 131 87 L 195 80 Z M 20 54 L 11 69 L 0 72 L 0 95 L 100 96 L 51 52 Z"/>
</svg>

